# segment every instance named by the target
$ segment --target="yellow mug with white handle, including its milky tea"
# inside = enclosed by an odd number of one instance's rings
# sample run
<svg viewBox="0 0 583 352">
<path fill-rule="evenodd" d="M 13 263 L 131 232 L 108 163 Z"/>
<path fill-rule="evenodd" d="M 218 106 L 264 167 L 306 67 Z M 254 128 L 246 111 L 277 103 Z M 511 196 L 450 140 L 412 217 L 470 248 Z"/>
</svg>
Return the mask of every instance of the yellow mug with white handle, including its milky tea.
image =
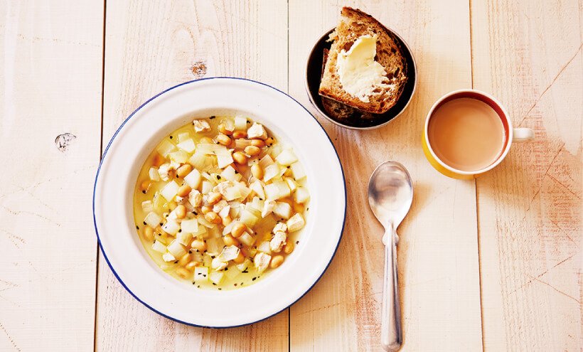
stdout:
<svg viewBox="0 0 583 352">
<path fill-rule="evenodd" d="M 479 90 L 456 90 L 437 100 L 425 120 L 423 151 L 442 174 L 471 179 L 506 157 L 513 142 L 529 142 L 535 133 L 513 128 L 506 109 Z"/>
</svg>

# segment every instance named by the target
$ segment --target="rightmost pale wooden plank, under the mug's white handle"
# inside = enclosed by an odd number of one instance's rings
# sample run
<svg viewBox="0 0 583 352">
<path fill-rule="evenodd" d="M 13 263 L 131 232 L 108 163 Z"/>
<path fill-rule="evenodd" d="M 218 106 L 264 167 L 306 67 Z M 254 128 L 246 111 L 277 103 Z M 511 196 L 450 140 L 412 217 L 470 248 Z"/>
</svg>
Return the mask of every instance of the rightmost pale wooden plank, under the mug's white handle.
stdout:
<svg viewBox="0 0 583 352">
<path fill-rule="evenodd" d="M 471 1 L 474 87 L 536 133 L 477 183 L 488 351 L 583 346 L 582 14 L 578 1 Z"/>
</svg>

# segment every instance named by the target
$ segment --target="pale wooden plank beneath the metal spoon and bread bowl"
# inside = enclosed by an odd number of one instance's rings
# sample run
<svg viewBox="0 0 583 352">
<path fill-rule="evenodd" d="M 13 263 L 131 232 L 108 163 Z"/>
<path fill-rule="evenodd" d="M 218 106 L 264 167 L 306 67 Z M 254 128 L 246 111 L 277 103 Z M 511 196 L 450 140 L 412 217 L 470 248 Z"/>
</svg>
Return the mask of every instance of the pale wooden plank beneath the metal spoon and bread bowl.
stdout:
<svg viewBox="0 0 583 352">
<path fill-rule="evenodd" d="M 433 102 L 451 90 L 471 87 L 468 3 L 333 1 L 313 6 L 311 1 L 290 1 L 290 92 L 306 107 L 306 55 L 322 33 L 336 26 L 341 6 L 351 3 L 405 38 L 417 59 L 419 84 L 405 114 L 371 131 L 336 127 L 310 107 L 340 155 L 348 216 L 328 271 L 290 309 L 291 351 L 380 350 L 383 229 L 369 210 L 366 189 L 375 166 L 387 159 L 405 164 L 415 192 L 398 230 L 402 351 L 481 350 L 475 183 L 439 174 L 421 146 L 424 117 Z"/>
</svg>

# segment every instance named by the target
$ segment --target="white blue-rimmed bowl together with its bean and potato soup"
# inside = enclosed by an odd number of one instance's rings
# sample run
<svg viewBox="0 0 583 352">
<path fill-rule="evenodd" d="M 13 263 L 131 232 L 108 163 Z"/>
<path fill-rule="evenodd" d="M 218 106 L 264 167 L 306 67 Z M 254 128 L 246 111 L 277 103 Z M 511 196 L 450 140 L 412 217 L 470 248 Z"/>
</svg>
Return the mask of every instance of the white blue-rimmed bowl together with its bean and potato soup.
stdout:
<svg viewBox="0 0 583 352">
<path fill-rule="evenodd" d="M 102 253 L 139 302 L 223 328 L 277 314 L 318 281 L 341 239 L 346 185 L 333 144 L 298 102 L 211 78 L 124 121 L 93 202 Z"/>
</svg>

